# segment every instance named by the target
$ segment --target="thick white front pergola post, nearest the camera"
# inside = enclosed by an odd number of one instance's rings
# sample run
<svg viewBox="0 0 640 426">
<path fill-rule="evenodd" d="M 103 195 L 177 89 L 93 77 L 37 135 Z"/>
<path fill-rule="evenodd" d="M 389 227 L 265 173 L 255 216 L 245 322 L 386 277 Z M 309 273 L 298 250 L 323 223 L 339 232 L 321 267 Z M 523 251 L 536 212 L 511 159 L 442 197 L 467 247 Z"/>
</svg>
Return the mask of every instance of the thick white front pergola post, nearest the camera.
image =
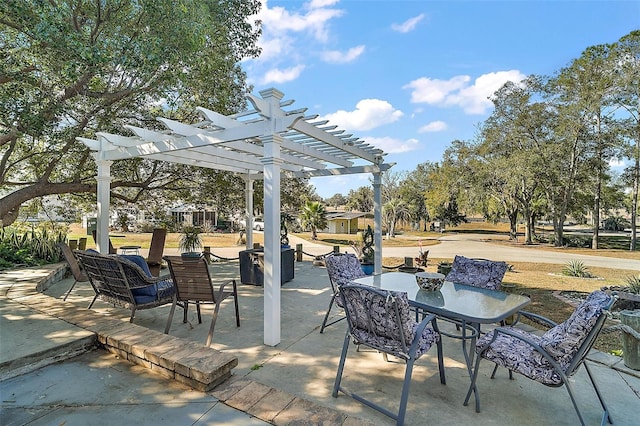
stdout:
<svg viewBox="0 0 640 426">
<path fill-rule="evenodd" d="M 280 343 L 280 145 L 277 134 L 264 146 L 264 344 Z"/>
</svg>

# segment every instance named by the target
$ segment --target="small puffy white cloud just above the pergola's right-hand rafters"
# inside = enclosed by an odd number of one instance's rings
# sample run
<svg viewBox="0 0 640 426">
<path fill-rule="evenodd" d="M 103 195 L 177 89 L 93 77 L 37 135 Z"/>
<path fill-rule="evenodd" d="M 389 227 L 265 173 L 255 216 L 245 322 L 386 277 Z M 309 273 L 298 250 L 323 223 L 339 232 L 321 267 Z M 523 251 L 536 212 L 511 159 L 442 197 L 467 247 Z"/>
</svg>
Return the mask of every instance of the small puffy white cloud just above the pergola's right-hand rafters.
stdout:
<svg viewBox="0 0 640 426">
<path fill-rule="evenodd" d="M 353 111 L 339 110 L 322 117 L 345 130 L 370 130 L 384 124 L 393 123 L 402 117 L 400 110 L 393 108 L 387 101 L 363 99 Z"/>
</svg>

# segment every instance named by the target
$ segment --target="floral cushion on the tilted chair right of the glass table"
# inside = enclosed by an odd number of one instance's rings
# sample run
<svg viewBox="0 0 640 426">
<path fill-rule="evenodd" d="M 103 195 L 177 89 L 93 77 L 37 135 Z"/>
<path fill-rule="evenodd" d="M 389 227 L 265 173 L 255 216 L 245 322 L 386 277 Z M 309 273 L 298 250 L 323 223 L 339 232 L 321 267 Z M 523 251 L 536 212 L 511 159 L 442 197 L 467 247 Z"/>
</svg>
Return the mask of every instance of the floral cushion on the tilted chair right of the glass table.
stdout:
<svg viewBox="0 0 640 426">
<path fill-rule="evenodd" d="M 569 319 L 542 336 L 514 327 L 509 327 L 509 330 L 539 345 L 558 363 L 562 372 L 566 373 L 569 364 L 611 301 L 611 296 L 602 291 L 591 293 Z M 517 337 L 502 333 L 498 333 L 496 339 L 492 341 L 494 333 L 495 331 L 491 331 L 478 340 L 476 352 L 479 355 L 545 385 L 562 384 L 560 374 L 534 346 Z M 486 347 L 487 345 L 489 346 Z"/>
</svg>

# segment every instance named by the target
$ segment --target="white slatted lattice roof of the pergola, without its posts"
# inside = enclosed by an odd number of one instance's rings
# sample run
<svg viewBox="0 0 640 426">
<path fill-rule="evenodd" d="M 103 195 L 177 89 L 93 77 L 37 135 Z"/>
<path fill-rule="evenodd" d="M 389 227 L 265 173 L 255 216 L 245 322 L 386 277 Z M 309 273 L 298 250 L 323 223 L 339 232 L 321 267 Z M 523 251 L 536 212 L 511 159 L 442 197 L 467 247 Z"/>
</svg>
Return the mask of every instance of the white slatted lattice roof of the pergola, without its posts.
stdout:
<svg viewBox="0 0 640 426">
<path fill-rule="evenodd" d="M 135 136 L 97 133 L 98 140 L 78 138 L 99 160 L 143 157 L 197 167 L 227 170 L 260 177 L 264 156 L 262 139 L 279 135 L 281 170 L 295 177 L 329 176 L 385 171 L 384 152 L 346 134 L 306 108 L 287 109 L 294 101 L 281 101 L 276 89 L 247 95 L 253 109 L 223 115 L 206 108 L 197 111 L 195 124 L 159 117 L 167 128 L 155 131 L 125 126 Z"/>
</svg>

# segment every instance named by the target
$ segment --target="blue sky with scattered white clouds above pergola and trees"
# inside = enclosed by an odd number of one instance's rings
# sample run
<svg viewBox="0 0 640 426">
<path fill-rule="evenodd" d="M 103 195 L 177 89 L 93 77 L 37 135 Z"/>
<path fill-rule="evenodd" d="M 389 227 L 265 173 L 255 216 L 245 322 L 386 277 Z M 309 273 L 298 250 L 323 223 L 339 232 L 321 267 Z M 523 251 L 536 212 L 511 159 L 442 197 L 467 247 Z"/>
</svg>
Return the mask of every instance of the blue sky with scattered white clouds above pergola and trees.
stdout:
<svg viewBox="0 0 640 426">
<path fill-rule="evenodd" d="M 640 1 L 263 0 L 254 93 L 275 87 L 387 153 L 394 172 L 472 140 L 508 80 L 640 29 Z M 312 179 L 324 198 L 370 175 Z"/>
</svg>

